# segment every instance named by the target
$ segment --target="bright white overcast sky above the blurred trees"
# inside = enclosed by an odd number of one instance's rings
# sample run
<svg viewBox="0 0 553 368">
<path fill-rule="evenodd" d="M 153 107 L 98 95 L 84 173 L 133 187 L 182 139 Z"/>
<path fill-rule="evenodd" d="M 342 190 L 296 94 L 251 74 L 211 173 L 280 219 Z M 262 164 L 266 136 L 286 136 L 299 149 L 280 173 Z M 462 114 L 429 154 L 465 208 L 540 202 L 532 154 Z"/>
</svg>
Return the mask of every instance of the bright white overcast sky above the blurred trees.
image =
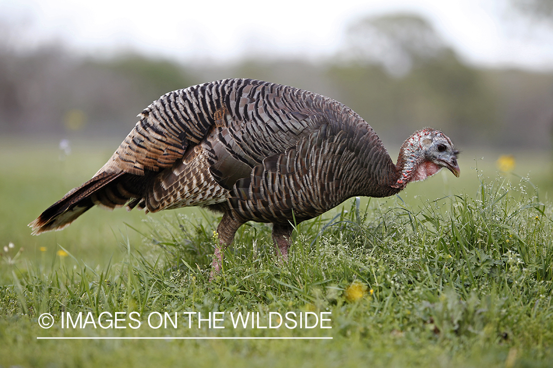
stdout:
<svg viewBox="0 0 553 368">
<path fill-rule="evenodd" d="M 348 24 L 397 12 L 428 19 L 476 65 L 553 70 L 551 24 L 525 22 L 499 0 L 0 0 L 0 21 L 19 49 L 59 41 L 87 54 L 135 50 L 180 62 L 316 61 L 340 49 Z"/>
</svg>

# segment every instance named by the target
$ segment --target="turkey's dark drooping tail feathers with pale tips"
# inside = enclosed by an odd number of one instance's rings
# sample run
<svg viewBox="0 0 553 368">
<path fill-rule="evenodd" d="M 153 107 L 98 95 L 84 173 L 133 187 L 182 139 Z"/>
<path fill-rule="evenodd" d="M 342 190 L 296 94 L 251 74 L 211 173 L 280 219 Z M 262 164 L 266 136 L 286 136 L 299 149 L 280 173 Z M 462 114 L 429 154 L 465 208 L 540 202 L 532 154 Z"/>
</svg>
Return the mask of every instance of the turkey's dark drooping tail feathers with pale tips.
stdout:
<svg viewBox="0 0 553 368">
<path fill-rule="evenodd" d="M 72 189 L 64 198 L 48 207 L 36 220 L 29 223 L 33 235 L 52 230 L 62 230 L 94 205 L 113 210 L 121 207 L 137 194 L 122 185 L 126 173 L 102 172 L 88 182 Z"/>
</svg>

